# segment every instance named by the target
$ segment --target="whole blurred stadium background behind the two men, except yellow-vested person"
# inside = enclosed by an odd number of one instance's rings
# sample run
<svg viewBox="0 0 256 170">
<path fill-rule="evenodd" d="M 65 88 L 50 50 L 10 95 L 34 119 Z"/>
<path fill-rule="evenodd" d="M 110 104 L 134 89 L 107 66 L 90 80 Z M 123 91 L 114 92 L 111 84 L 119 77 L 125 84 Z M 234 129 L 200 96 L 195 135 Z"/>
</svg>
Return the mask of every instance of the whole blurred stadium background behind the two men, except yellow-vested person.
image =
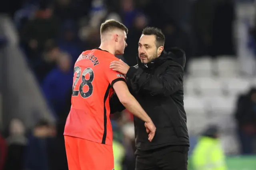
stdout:
<svg viewBox="0 0 256 170">
<path fill-rule="evenodd" d="M 145 26 L 162 29 L 166 49 L 186 51 L 190 154 L 214 124 L 229 170 L 256 170 L 254 0 L 9 0 L 0 12 L 0 169 L 67 170 L 73 64 L 99 46 L 100 23 L 115 19 L 129 29 L 118 56 L 129 65 Z M 115 168 L 134 170 L 132 116 L 112 115 L 112 123 Z"/>
</svg>

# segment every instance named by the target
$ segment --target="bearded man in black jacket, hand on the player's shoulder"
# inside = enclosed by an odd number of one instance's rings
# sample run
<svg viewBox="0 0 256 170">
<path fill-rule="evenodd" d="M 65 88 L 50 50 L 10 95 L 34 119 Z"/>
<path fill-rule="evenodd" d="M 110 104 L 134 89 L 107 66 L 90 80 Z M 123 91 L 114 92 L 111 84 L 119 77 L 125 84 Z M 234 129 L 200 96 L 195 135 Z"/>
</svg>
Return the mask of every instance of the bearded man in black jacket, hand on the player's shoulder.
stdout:
<svg viewBox="0 0 256 170">
<path fill-rule="evenodd" d="M 148 141 L 144 122 L 134 117 L 136 170 L 187 170 L 189 138 L 183 106 L 183 73 L 186 56 L 182 49 L 164 51 L 164 34 L 148 27 L 138 43 L 138 65 L 113 61 L 110 68 L 127 77 L 127 85 L 156 125 Z M 122 111 L 116 96 L 111 112 Z M 148 130 L 147 130 L 148 131 Z"/>
</svg>

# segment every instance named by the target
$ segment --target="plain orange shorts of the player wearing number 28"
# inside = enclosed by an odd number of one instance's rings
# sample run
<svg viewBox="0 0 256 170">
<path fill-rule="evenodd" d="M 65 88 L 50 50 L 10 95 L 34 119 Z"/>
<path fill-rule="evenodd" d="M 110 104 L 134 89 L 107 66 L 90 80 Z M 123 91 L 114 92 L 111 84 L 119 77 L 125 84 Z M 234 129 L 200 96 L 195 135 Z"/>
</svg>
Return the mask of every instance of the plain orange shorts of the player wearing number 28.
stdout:
<svg viewBox="0 0 256 170">
<path fill-rule="evenodd" d="M 64 136 L 69 170 L 114 170 L 112 145 Z"/>
</svg>

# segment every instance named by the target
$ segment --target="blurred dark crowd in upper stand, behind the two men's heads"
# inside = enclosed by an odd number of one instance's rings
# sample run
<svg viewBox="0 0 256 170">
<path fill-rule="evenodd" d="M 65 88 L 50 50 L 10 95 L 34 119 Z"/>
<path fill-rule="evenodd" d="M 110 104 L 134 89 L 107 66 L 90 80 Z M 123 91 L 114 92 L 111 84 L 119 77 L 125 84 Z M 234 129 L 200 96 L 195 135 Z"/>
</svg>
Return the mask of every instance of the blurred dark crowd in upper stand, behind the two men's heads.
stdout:
<svg viewBox="0 0 256 170">
<path fill-rule="evenodd" d="M 81 51 L 98 47 L 99 27 L 106 19 L 116 19 L 128 27 L 128 46 L 124 56 L 118 57 L 129 65 L 137 64 L 138 40 L 146 26 L 161 28 L 166 36 L 165 48 L 178 46 L 184 49 L 187 63 L 193 56 L 234 55 L 234 7 L 226 0 L 209 3 L 204 0 L 193 4 L 186 0 L 175 3 L 172 0 L 162 0 L 162 3 L 148 0 L 30 0 L 13 16 L 30 67 L 56 117 L 61 117 L 61 106 L 72 86 L 74 62 Z M 155 10 L 157 12 L 152 13 Z M 183 14 L 179 14 L 180 10 Z M 189 17 L 190 14 L 194 17 Z"/>
</svg>

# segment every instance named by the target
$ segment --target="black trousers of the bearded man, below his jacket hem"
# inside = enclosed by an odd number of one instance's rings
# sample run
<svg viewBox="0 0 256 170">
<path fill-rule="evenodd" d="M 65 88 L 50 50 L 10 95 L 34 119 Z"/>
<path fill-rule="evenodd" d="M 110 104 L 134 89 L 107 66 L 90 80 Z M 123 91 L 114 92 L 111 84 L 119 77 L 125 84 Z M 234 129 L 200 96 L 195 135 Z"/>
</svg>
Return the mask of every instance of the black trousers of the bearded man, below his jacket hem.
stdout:
<svg viewBox="0 0 256 170">
<path fill-rule="evenodd" d="M 188 146 L 164 146 L 154 150 L 136 150 L 135 170 L 187 170 Z"/>
</svg>

